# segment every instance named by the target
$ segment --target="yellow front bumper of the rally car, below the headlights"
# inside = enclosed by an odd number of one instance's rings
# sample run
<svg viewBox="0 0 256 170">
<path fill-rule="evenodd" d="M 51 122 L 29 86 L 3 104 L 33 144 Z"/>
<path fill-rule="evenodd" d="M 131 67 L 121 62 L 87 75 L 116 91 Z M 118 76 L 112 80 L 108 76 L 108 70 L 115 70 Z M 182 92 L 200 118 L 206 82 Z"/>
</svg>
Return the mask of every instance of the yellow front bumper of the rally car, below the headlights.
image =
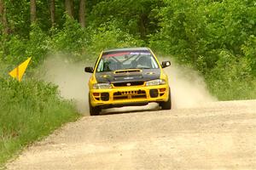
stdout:
<svg viewBox="0 0 256 170">
<path fill-rule="evenodd" d="M 150 102 L 167 101 L 169 93 L 168 84 L 149 87 L 90 89 L 90 105 L 102 108 L 147 105 Z"/>
</svg>

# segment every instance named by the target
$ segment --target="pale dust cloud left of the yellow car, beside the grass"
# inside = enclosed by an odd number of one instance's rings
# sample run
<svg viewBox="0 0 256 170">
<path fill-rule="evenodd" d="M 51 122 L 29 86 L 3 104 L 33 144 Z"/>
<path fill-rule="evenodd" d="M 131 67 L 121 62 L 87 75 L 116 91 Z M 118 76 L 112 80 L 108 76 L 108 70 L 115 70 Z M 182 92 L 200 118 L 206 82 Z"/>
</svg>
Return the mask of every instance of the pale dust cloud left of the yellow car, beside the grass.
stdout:
<svg viewBox="0 0 256 170">
<path fill-rule="evenodd" d="M 88 64 L 89 63 L 89 64 Z M 79 113 L 88 115 L 88 81 L 90 73 L 84 72 L 84 67 L 90 66 L 90 61 L 74 63 L 66 55 L 49 56 L 41 68 L 43 79 L 59 86 L 61 97 L 72 99 Z"/>
</svg>

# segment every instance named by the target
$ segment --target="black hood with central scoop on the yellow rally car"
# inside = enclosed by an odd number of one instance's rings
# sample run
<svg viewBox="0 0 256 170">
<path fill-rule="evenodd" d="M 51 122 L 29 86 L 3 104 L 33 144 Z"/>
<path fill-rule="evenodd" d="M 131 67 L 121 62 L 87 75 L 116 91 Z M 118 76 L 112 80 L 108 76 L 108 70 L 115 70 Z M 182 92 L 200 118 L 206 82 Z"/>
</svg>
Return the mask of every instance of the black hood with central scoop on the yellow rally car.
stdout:
<svg viewBox="0 0 256 170">
<path fill-rule="evenodd" d="M 96 72 L 96 81 L 101 82 L 146 82 L 160 78 L 160 69 L 132 69 L 124 71 Z"/>
</svg>

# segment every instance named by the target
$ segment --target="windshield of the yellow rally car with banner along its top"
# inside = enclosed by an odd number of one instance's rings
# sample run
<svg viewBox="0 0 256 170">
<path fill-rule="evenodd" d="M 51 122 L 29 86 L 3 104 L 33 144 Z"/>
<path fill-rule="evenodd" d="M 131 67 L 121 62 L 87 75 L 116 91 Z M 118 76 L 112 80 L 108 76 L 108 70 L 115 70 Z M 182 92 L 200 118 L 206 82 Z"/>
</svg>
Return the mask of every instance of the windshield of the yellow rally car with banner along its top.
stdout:
<svg viewBox="0 0 256 170">
<path fill-rule="evenodd" d="M 96 71 L 157 68 L 159 65 L 150 52 L 117 52 L 103 54 Z"/>
</svg>

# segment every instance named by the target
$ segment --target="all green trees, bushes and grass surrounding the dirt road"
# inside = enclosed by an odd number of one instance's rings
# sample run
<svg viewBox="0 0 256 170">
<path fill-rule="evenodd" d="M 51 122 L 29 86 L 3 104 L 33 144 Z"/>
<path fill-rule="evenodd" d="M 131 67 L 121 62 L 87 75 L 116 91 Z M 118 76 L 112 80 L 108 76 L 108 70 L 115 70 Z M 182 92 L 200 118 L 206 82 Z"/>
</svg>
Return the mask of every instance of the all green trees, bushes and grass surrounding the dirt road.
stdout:
<svg viewBox="0 0 256 170">
<path fill-rule="evenodd" d="M 253 0 L 86 1 L 86 28 L 78 22 L 78 0 L 74 18 L 64 14 L 63 0 L 55 0 L 54 27 L 49 1 L 36 1 L 38 20 L 32 25 L 29 1 L 4 2 L 9 34 L 0 35 L 0 162 L 76 117 L 55 86 L 30 79 L 49 53 L 88 60 L 106 48 L 149 46 L 200 71 L 218 99 L 256 98 Z M 3 79 L 31 56 L 26 82 Z"/>
</svg>

